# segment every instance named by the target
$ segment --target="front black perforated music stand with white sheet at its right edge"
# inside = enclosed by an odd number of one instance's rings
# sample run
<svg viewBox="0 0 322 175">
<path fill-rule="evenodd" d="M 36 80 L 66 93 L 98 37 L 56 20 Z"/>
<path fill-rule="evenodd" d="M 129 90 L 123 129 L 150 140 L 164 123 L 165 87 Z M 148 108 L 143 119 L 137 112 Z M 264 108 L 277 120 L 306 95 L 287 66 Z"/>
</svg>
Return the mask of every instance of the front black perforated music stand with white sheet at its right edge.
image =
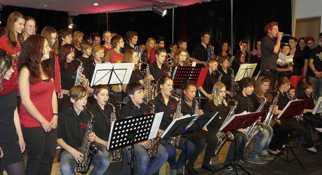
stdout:
<svg viewBox="0 0 322 175">
<path fill-rule="evenodd" d="M 164 112 L 148 113 L 112 122 L 107 150 L 131 145 L 131 174 L 134 174 L 134 144 L 156 137 Z"/>
</svg>

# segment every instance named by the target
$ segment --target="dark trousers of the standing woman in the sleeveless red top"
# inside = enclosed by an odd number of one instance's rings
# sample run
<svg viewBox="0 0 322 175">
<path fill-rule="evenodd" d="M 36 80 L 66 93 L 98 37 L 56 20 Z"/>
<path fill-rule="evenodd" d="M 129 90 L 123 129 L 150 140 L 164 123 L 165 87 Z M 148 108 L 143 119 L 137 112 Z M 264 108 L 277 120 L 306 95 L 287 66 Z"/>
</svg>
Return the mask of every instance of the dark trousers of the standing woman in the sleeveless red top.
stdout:
<svg viewBox="0 0 322 175">
<path fill-rule="evenodd" d="M 26 174 L 50 174 L 55 157 L 57 129 L 45 132 L 42 127 L 22 126 L 28 161 Z"/>
</svg>

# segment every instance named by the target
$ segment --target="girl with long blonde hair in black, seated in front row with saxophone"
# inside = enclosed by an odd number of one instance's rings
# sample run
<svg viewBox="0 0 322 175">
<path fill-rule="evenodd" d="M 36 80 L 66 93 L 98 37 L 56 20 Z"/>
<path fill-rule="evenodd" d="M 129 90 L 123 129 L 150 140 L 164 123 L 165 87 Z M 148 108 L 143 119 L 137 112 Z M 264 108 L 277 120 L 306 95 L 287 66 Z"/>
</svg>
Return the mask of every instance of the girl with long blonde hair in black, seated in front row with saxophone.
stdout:
<svg viewBox="0 0 322 175">
<path fill-rule="evenodd" d="M 215 112 L 218 111 L 219 113 L 217 114 L 217 116 L 215 117 L 214 120 L 212 120 L 210 122 L 210 124 L 207 126 L 207 129 L 209 132 L 212 133 L 218 133 L 220 126 L 226 121 L 228 120 L 232 114 L 234 113 L 233 110 L 230 110 L 230 106 L 227 103 L 227 100 L 225 99 L 226 96 L 226 87 L 223 83 L 216 83 L 213 87 L 212 90 L 212 99 L 209 100 L 209 102 L 206 104 L 204 112 Z M 234 138 L 233 141 L 231 141 L 231 144 L 229 146 L 227 155 L 226 155 L 226 160 L 224 162 L 224 165 L 228 165 L 232 162 L 233 160 L 233 155 L 234 155 L 234 144 L 235 144 L 235 140 L 238 140 L 237 143 L 237 148 L 241 148 L 243 149 L 244 152 L 244 145 L 238 146 L 240 145 L 241 139 L 242 137 L 239 135 L 240 132 L 236 133 L 236 137 Z M 218 138 L 219 139 L 219 138 Z M 224 140 L 222 138 L 222 140 Z M 245 141 L 244 141 L 245 143 Z M 218 144 L 221 144 L 218 142 Z M 222 143 L 223 145 L 224 143 Z M 214 155 L 217 155 L 220 151 L 222 146 L 218 146 L 216 147 L 216 152 L 214 153 Z M 232 166 L 228 166 L 226 168 L 223 169 L 224 172 L 229 173 L 229 174 L 236 174 L 235 170 L 232 168 Z M 240 171 L 237 172 L 238 175 L 241 174 Z"/>
</svg>

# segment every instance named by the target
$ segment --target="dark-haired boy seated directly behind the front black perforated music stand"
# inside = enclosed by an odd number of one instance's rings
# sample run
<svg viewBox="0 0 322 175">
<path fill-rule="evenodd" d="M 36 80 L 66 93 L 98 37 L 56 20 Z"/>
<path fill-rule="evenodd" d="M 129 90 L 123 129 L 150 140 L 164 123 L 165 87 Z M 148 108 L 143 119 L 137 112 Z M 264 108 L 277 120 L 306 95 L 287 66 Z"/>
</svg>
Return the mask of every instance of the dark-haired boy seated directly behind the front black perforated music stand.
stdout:
<svg viewBox="0 0 322 175">
<path fill-rule="evenodd" d="M 130 96 L 130 101 L 124 107 L 122 107 L 120 119 L 151 112 L 151 108 L 147 104 L 143 103 L 143 90 L 143 85 L 138 82 L 131 82 L 126 86 L 126 92 Z M 127 146 L 122 149 L 122 174 L 130 174 L 130 164 L 128 164 L 128 162 L 131 161 L 131 153 L 129 151 L 130 147 L 131 146 Z M 156 146 L 157 155 L 155 158 L 150 158 L 152 155 L 148 154 L 146 151 L 147 148 L 153 148 L 153 145 L 151 145 L 151 140 L 143 141 L 134 145 L 134 159 L 136 160 L 137 165 L 136 174 L 157 173 L 159 172 L 161 166 L 168 159 L 168 152 L 164 146 Z"/>
</svg>

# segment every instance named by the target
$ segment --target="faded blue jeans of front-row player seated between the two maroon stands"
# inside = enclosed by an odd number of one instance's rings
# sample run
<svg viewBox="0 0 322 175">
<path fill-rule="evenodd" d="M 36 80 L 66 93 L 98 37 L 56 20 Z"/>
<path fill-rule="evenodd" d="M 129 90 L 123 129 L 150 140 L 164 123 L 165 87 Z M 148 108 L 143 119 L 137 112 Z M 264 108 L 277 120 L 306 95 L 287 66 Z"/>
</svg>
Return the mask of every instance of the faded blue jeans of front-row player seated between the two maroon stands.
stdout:
<svg viewBox="0 0 322 175">
<path fill-rule="evenodd" d="M 257 158 L 259 155 L 268 154 L 267 149 L 272 140 L 273 129 L 269 125 L 264 124 L 262 124 L 262 128 L 264 129 L 264 134 L 259 132 L 259 134 L 255 137 L 253 148 L 248 153 L 247 158 L 253 159 Z"/>
</svg>

